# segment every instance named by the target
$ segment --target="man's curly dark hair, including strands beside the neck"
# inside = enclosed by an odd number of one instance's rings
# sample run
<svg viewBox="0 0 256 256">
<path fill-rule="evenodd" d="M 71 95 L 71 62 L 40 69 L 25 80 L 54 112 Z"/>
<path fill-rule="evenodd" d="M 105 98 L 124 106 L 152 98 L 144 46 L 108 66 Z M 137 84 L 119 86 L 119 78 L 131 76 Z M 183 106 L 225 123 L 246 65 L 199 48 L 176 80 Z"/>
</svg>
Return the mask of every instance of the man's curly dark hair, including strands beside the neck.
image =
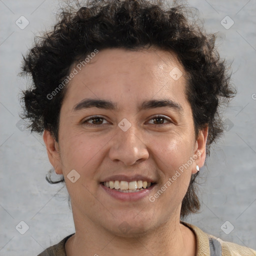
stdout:
<svg viewBox="0 0 256 256">
<path fill-rule="evenodd" d="M 69 6 L 70 7 L 70 6 Z M 47 95 L 67 77 L 94 49 L 147 49 L 150 46 L 175 52 L 187 74 L 186 96 L 190 103 L 196 136 L 208 126 L 206 155 L 210 144 L 223 132 L 220 106 L 235 95 L 225 60 L 215 49 L 215 34 L 207 34 L 197 21 L 189 18 L 184 5 L 164 8 L 162 1 L 91 0 L 76 9 L 66 8 L 51 31 L 36 37 L 23 56 L 23 75 L 30 75 L 30 87 L 22 90 L 21 118 L 27 119 L 31 132 L 49 130 L 58 141 L 59 112 L 66 87 L 53 99 Z M 182 200 L 180 217 L 199 210 L 195 178 Z M 50 183 L 64 182 L 52 181 Z"/>
</svg>

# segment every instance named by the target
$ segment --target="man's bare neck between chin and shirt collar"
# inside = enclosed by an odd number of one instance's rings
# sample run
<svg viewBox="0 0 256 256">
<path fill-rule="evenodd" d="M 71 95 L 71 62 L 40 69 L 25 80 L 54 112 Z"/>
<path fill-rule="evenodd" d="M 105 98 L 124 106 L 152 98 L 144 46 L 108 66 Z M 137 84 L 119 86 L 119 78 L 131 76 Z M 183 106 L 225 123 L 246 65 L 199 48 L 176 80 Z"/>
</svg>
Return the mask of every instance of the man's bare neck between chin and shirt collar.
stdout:
<svg viewBox="0 0 256 256">
<path fill-rule="evenodd" d="M 65 244 L 67 256 L 195 255 L 193 232 L 179 222 L 179 215 L 153 230 L 120 236 L 74 212 L 75 234 Z"/>
</svg>

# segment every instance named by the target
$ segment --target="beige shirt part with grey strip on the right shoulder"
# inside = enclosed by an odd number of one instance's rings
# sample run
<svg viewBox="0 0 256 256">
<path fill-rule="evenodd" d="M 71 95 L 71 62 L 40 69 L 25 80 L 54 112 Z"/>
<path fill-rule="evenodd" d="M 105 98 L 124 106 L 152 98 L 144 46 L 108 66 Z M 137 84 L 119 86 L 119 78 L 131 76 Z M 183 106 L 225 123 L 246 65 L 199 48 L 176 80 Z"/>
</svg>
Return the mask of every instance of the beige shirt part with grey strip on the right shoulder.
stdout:
<svg viewBox="0 0 256 256">
<path fill-rule="evenodd" d="M 233 242 L 223 241 L 220 238 L 205 233 L 195 225 L 183 221 L 180 222 L 192 229 L 195 234 L 197 247 L 196 256 L 256 256 L 256 250 Z"/>
</svg>

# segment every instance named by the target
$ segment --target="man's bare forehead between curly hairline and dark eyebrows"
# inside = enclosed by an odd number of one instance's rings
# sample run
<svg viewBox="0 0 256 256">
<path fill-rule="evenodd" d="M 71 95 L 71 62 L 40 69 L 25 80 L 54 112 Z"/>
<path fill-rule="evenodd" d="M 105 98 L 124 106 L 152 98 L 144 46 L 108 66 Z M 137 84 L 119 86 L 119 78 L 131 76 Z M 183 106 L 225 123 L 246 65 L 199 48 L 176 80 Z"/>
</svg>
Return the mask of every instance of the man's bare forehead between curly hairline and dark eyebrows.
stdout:
<svg viewBox="0 0 256 256">
<path fill-rule="evenodd" d="M 123 103 L 157 96 L 184 98 L 185 72 L 175 53 L 161 49 L 103 49 L 80 70 L 77 64 L 71 68 L 78 73 L 68 83 L 64 100 L 72 102 L 69 108 L 86 97 Z"/>
</svg>

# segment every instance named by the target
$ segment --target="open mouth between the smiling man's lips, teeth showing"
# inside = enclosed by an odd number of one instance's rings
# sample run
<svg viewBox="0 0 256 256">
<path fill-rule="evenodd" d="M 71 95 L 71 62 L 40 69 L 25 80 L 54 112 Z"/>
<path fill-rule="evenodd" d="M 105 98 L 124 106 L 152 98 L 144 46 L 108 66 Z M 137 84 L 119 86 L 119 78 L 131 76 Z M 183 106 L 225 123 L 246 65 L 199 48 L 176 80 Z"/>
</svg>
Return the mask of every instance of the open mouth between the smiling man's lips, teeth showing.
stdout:
<svg viewBox="0 0 256 256">
<path fill-rule="evenodd" d="M 134 193 L 142 190 L 151 189 L 155 183 L 145 181 L 145 180 L 133 180 L 133 181 L 125 181 L 125 180 L 109 180 L 100 182 L 104 187 L 108 187 L 111 190 L 122 192 L 122 193 Z"/>
</svg>

